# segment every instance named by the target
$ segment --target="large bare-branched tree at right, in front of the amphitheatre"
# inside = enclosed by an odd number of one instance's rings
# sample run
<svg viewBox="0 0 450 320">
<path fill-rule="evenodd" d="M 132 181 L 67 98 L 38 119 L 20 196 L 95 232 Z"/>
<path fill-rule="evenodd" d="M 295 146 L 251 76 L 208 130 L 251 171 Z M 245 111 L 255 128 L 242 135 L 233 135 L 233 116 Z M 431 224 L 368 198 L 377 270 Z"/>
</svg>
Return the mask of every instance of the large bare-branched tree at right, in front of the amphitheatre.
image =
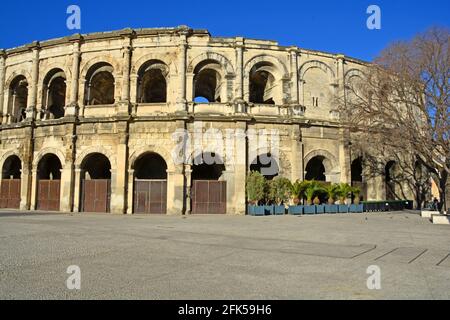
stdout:
<svg viewBox="0 0 450 320">
<path fill-rule="evenodd" d="M 366 160 L 397 158 L 403 164 L 402 179 L 416 193 L 424 191 L 425 168 L 439 187 L 444 210 L 450 173 L 449 88 L 450 32 L 432 28 L 411 41 L 391 44 L 348 81 L 345 97 L 338 98 L 351 139 L 372 155 Z M 372 167 L 382 170 L 380 164 Z"/>
</svg>

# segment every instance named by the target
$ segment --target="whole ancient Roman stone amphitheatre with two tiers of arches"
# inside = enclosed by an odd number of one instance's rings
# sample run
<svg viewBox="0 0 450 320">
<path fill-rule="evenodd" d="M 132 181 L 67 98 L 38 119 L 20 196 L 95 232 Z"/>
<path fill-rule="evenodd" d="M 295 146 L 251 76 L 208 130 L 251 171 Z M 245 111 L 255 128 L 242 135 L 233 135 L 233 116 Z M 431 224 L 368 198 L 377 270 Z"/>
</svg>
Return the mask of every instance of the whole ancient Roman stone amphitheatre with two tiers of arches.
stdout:
<svg viewBox="0 0 450 320">
<path fill-rule="evenodd" d="M 333 103 L 363 68 L 341 54 L 186 26 L 2 50 L 1 207 L 245 214 L 246 174 L 267 167 L 385 198 Z M 205 155 L 214 161 L 199 161 Z"/>
</svg>

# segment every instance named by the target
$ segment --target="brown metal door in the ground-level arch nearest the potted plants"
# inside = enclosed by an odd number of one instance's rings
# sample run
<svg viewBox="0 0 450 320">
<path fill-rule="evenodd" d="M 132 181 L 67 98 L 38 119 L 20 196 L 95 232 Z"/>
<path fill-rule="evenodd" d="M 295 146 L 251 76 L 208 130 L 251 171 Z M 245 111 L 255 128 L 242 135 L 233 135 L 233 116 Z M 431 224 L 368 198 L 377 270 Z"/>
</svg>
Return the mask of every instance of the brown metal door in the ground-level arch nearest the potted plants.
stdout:
<svg viewBox="0 0 450 320">
<path fill-rule="evenodd" d="M 192 185 L 193 214 L 226 214 L 227 182 L 194 180 Z"/>
</svg>

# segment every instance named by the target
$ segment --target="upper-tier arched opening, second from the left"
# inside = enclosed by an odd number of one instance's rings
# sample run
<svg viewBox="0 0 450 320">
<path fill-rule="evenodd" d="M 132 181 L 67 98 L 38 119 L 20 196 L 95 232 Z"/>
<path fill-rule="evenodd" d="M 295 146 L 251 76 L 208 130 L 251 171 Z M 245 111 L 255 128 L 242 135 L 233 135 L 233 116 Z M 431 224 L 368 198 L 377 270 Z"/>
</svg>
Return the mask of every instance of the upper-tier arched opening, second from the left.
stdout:
<svg viewBox="0 0 450 320">
<path fill-rule="evenodd" d="M 61 69 L 53 69 L 44 79 L 43 119 L 59 119 L 64 117 L 66 105 L 66 75 Z"/>
</svg>

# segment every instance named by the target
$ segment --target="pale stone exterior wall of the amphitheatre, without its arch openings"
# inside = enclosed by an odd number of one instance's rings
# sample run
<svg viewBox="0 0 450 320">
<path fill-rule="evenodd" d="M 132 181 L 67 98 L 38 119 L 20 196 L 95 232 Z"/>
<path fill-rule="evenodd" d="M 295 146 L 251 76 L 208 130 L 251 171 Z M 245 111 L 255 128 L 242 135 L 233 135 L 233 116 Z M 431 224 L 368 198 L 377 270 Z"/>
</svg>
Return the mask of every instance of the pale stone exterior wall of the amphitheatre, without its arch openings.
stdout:
<svg viewBox="0 0 450 320">
<path fill-rule="evenodd" d="M 165 102 L 140 100 L 146 68 L 164 75 Z M 111 164 L 111 212 L 131 214 L 134 163 L 154 152 L 167 163 L 167 212 L 188 214 L 192 163 L 173 161 L 173 134 L 194 134 L 201 122 L 222 132 L 277 130 L 280 175 L 304 179 L 308 161 L 320 156 L 327 181 L 350 182 L 351 150 L 333 97 L 344 94 L 346 81 L 363 68 L 364 62 L 343 55 L 273 41 L 215 38 L 184 26 L 74 35 L 0 51 L 0 167 L 11 155 L 20 158 L 21 208 L 35 210 L 39 161 L 56 155 L 62 164 L 61 210 L 77 212 L 83 160 L 101 153 Z M 196 77 L 206 69 L 216 72 L 214 94 L 220 101 L 196 103 Z M 60 118 L 48 116 L 46 79 L 54 70 L 62 72 L 66 85 Z M 112 74 L 114 103 L 87 105 L 95 90 L 93 70 Z M 267 76 L 261 99 L 270 98 L 270 103 L 251 101 L 254 74 Z M 28 90 L 23 121 L 15 118 L 18 93 L 12 86 L 18 77 L 26 79 Z M 245 161 L 227 158 L 222 176 L 228 182 L 230 214 L 245 214 L 245 176 L 251 155 L 260 152 L 243 141 L 234 146 L 233 157 Z M 207 151 L 209 145 L 202 148 Z M 221 156 L 226 158 L 226 150 Z M 384 186 L 368 188 L 369 199 L 381 199 Z"/>
</svg>

